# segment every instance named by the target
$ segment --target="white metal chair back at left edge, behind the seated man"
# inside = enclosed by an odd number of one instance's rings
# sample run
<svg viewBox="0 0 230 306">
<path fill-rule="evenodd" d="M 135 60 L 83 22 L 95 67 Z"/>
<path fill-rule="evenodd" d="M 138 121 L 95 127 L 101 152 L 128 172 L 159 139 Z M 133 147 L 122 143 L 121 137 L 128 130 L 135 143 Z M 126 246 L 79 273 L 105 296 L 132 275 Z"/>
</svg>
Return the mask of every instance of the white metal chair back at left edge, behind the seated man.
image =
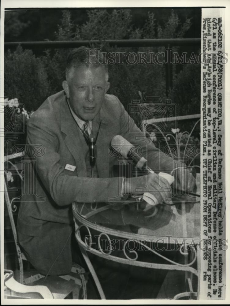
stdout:
<svg viewBox="0 0 230 306">
<path fill-rule="evenodd" d="M 7 212 L 10 221 L 10 227 L 13 232 L 13 239 L 17 251 L 17 259 L 19 263 L 20 283 L 23 283 L 23 259 L 26 259 L 20 250 L 17 238 L 17 230 L 15 225 L 15 218 L 17 218 L 18 203 L 20 202 L 20 187 L 22 186 L 23 176 L 22 169 L 19 169 L 18 159 L 24 155 L 12 154 L 4 157 L 4 198 L 7 207 Z M 17 203 L 18 202 L 18 203 Z M 16 205 L 17 203 L 17 205 Z M 6 216 L 6 211 L 4 215 Z M 5 227 L 4 230 L 10 230 Z"/>
</svg>

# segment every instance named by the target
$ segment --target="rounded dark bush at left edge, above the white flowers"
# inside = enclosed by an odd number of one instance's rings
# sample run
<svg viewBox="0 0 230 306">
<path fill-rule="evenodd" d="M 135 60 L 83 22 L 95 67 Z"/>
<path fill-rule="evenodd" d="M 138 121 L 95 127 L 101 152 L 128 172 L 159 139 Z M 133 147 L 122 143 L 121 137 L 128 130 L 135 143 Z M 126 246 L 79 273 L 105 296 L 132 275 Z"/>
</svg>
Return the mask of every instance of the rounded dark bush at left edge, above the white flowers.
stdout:
<svg viewBox="0 0 230 306">
<path fill-rule="evenodd" d="M 23 50 L 19 46 L 13 53 L 8 51 L 4 69 L 4 95 L 17 97 L 27 110 L 36 110 L 50 94 L 44 65 L 31 50 Z"/>
</svg>

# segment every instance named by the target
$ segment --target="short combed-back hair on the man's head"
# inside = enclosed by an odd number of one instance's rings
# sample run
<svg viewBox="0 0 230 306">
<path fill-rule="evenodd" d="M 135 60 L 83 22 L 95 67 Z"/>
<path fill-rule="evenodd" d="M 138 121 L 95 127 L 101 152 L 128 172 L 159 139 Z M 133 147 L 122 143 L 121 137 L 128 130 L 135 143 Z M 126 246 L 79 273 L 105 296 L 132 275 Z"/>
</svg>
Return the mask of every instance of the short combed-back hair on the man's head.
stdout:
<svg viewBox="0 0 230 306">
<path fill-rule="evenodd" d="M 108 73 L 108 65 L 105 61 L 104 55 L 100 52 L 100 49 L 91 49 L 87 47 L 79 47 L 76 49 L 73 49 L 67 58 L 67 63 L 66 63 L 66 69 L 65 69 L 65 77 L 66 80 L 71 79 L 71 71 L 72 67 L 77 68 L 81 65 L 95 65 L 97 66 L 102 66 L 105 69 L 106 73 L 106 82 L 109 79 L 109 73 Z"/>
</svg>

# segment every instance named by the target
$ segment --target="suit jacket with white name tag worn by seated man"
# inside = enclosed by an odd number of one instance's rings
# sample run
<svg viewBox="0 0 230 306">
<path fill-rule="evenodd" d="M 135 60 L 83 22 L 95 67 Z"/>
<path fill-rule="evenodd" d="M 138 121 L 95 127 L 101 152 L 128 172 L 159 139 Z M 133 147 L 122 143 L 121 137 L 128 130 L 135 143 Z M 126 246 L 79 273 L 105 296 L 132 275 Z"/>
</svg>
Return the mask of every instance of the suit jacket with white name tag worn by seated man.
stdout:
<svg viewBox="0 0 230 306">
<path fill-rule="evenodd" d="M 140 130 L 114 95 L 106 94 L 102 108 L 92 122 L 94 133 L 98 131 L 100 121 L 96 159 L 98 178 L 87 177 L 85 158 L 88 147 L 70 113 L 64 91 L 46 99 L 28 121 L 25 162 L 30 167 L 24 173 L 18 232 L 30 261 L 44 273 L 71 231 L 72 202 L 107 202 L 109 197 L 120 199 L 118 178 L 112 177 L 115 157 L 109 154 L 113 136 L 121 135 L 132 144 L 141 146 L 142 155 L 153 170 L 173 169 L 173 160 L 140 135 Z M 136 136 L 139 136 L 139 140 Z M 76 169 L 66 170 L 66 164 Z M 33 178 L 34 187 L 31 184 Z M 47 249 L 51 241 L 56 243 Z M 47 263 L 41 269 L 44 256 Z M 70 258 L 70 243 L 52 269 L 53 274 L 68 273 L 71 263 L 66 262 L 67 258 Z"/>
</svg>

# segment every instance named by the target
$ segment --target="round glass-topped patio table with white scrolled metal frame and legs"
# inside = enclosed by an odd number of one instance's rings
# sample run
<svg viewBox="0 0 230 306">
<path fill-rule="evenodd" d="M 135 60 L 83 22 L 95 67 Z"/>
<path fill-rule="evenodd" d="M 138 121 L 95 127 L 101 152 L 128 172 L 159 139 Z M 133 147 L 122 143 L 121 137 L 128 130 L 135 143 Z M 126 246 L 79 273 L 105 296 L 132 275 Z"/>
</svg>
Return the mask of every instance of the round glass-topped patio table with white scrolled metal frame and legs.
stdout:
<svg viewBox="0 0 230 306">
<path fill-rule="evenodd" d="M 76 240 L 102 299 L 106 297 L 87 252 L 147 269 L 184 271 L 186 290 L 174 299 L 198 298 L 200 201 L 188 195 L 177 195 L 176 199 L 176 205 L 158 204 L 150 209 L 142 199 L 135 198 L 119 203 L 72 204 Z M 114 252 L 114 239 L 122 241 L 119 255 Z M 161 257 L 162 262 L 140 260 L 138 248 L 154 258 Z M 167 248 L 178 252 L 177 260 L 162 253 Z"/>
</svg>

